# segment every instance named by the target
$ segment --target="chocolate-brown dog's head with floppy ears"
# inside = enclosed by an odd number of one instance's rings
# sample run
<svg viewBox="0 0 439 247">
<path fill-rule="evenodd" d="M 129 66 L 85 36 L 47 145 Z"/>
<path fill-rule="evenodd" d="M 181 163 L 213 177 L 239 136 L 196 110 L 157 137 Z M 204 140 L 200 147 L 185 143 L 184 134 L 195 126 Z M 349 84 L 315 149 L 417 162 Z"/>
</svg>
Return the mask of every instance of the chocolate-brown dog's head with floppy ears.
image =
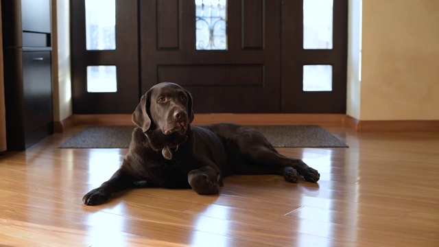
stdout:
<svg viewBox="0 0 439 247">
<path fill-rule="evenodd" d="M 143 132 L 185 135 L 193 121 L 192 96 L 178 84 L 156 84 L 141 97 L 132 121 Z"/>
</svg>

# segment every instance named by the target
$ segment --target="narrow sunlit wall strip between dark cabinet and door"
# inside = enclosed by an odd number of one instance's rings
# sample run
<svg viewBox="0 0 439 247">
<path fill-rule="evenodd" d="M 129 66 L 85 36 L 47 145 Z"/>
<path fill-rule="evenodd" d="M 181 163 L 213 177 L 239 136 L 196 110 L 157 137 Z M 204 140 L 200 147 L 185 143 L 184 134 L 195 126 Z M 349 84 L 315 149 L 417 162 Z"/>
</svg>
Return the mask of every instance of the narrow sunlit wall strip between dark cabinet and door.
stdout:
<svg viewBox="0 0 439 247">
<path fill-rule="evenodd" d="M 72 115 L 69 0 L 52 0 L 54 121 Z"/>
</svg>

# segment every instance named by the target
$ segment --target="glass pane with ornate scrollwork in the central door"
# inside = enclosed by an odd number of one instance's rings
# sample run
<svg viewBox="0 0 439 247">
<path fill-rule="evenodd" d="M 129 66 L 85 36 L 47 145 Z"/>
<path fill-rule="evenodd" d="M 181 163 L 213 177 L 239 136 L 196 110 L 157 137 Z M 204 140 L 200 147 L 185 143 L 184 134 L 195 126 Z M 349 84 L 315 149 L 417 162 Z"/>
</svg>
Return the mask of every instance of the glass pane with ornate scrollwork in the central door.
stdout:
<svg viewBox="0 0 439 247">
<path fill-rule="evenodd" d="M 227 49 L 227 0 L 195 0 L 197 50 Z"/>
</svg>

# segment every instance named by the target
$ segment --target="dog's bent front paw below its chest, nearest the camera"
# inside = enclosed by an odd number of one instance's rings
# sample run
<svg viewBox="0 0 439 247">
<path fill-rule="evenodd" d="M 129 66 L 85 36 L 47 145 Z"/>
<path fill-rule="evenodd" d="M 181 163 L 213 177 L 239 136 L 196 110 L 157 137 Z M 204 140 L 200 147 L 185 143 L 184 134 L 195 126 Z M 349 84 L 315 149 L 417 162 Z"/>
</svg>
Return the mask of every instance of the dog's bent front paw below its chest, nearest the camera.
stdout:
<svg viewBox="0 0 439 247">
<path fill-rule="evenodd" d="M 187 174 L 192 189 L 199 195 L 213 195 L 219 192 L 222 185 L 221 174 L 210 166 L 194 169 Z"/>
</svg>

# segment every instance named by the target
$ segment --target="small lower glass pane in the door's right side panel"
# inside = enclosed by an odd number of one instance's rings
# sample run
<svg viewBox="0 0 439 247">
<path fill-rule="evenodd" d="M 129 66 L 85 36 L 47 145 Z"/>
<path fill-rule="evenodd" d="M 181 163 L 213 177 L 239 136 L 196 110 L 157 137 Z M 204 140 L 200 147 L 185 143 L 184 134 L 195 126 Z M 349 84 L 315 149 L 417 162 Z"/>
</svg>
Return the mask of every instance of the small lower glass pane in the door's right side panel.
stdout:
<svg viewBox="0 0 439 247">
<path fill-rule="evenodd" d="M 304 65 L 303 91 L 332 91 L 332 65 Z"/>
</svg>

